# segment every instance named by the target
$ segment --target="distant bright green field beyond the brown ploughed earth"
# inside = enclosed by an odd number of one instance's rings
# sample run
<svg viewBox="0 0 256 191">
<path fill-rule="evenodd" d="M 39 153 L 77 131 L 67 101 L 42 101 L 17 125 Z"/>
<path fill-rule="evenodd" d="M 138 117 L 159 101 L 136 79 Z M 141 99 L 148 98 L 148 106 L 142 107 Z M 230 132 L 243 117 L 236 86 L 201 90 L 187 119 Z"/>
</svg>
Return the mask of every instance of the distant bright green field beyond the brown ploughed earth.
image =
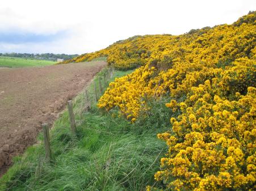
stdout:
<svg viewBox="0 0 256 191">
<path fill-rule="evenodd" d="M 0 57 L 0 67 L 8 67 L 8 68 L 48 66 L 55 63 L 56 62 L 49 61 L 49 60 Z"/>
</svg>

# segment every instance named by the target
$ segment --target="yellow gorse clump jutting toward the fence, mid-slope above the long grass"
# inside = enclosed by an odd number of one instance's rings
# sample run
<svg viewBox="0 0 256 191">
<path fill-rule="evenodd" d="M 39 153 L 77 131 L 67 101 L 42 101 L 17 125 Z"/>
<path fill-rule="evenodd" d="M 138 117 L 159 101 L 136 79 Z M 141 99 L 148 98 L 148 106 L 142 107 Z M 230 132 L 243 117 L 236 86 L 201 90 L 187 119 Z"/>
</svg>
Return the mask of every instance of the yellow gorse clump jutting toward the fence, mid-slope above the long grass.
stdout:
<svg viewBox="0 0 256 191">
<path fill-rule="evenodd" d="M 132 74 L 115 79 L 100 98 L 98 107 L 106 108 L 107 111 L 118 107 L 127 119 L 135 121 L 141 106 L 145 105 L 145 101 L 141 98 L 151 93 L 147 84 L 154 71 L 156 71 L 154 67 L 142 66 Z"/>
</svg>

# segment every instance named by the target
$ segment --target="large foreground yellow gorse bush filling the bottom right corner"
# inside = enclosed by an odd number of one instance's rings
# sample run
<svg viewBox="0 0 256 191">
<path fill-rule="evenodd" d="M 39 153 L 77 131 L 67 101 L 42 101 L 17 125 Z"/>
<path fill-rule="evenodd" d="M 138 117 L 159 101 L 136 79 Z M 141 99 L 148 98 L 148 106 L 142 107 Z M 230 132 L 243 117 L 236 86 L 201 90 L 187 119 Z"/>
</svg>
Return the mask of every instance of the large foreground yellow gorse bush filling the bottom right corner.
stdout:
<svg viewBox="0 0 256 191">
<path fill-rule="evenodd" d="M 181 110 L 171 118 L 174 133 L 158 134 L 169 150 L 155 178 L 169 189 L 255 189 L 256 88 L 229 100 L 216 94 L 219 84 L 221 79 L 206 80 L 184 102 L 166 104 Z"/>
</svg>

